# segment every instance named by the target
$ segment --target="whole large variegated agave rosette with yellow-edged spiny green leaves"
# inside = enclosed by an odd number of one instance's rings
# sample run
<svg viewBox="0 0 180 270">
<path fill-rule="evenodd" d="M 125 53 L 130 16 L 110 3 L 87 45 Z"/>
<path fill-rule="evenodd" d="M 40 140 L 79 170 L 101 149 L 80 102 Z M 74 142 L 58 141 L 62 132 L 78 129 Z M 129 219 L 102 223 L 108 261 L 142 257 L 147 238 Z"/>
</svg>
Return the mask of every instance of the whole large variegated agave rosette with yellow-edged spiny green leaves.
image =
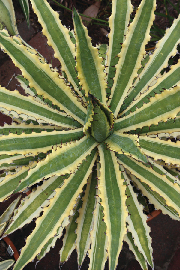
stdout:
<svg viewBox="0 0 180 270">
<path fill-rule="evenodd" d="M 153 268 L 150 228 L 134 191 L 179 220 L 180 62 L 161 71 L 177 53 L 180 16 L 149 56 L 156 1 L 142 0 L 129 24 L 131 1 L 113 0 L 106 52 L 92 46 L 75 8 L 73 35 L 45 0 L 31 2 L 64 76 L 0 32 L 27 93 L 0 88 L 1 111 L 13 119 L 1 127 L 1 201 L 32 187 L 4 236 L 37 218 L 13 269 L 42 259 L 64 228 L 61 262 L 76 249 L 78 265 L 88 253 L 89 269 L 104 269 L 107 259 L 116 269 L 124 240 L 142 269 Z"/>
</svg>

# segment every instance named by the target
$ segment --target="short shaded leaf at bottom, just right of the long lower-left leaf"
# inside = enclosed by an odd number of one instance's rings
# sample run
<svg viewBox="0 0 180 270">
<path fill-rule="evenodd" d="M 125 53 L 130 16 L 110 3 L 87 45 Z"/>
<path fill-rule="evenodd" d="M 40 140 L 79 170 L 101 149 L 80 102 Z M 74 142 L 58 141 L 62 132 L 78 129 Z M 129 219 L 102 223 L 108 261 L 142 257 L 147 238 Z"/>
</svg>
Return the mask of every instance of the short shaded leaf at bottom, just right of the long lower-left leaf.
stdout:
<svg viewBox="0 0 180 270">
<path fill-rule="evenodd" d="M 76 205 L 73 207 L 73 216 L 69 219 L 69 225 L 66 227 L 66 233 L 63 237 L 63 246 L 61 247 L 60 262 L 66 262 L 72 251 L 76 249 L 76 238 L 77 234 L 75 233 L 77 229 L 76 219 L 79 217 L 79 208 L 82 206 L 81 198 L 77 199 Z"/>
</svg>

